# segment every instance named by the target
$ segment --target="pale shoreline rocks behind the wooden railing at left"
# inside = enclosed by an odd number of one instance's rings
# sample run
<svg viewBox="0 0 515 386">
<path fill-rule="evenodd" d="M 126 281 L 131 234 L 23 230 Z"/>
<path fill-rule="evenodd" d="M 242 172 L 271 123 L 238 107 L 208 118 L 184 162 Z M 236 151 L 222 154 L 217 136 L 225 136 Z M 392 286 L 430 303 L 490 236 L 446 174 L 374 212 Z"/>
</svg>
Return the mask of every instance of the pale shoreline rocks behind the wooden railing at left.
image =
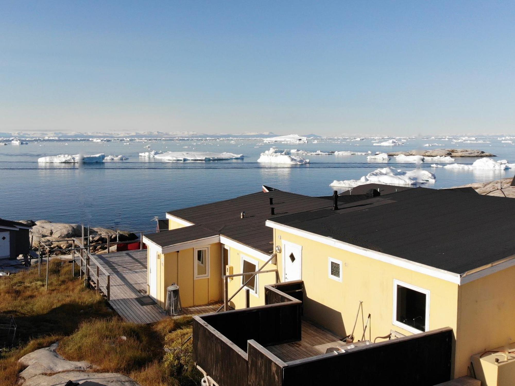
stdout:
<svg viewBox="0 0 515 386">
<path fill-rule="evenodd" d="M 32 226 L 32 248 L 37 250 L 40 241 L 49 241 L 48 247 L 51 247 L 54 251 L 53 255 L 59 255 L 59 249 L 72 248 L 72 242 L 66 241 L 71 238 L 78 238 L 82 236 L 82 226 L 78 224 L 67 224 L 63 222 L 50 222 L 48 220 L 20 220 L 27 226 Z M 87 232 L 87 230 L 86 230 Z M 116 234 L 118 233 L 118 236 Z M 97 245 L 101 243 L 107 243 L 107 239 L 110 241 L 131 241 L 138 238 L 133 233 L 124 231 L 115 231 L 112 229 L 101 228 L 101 227 L 90 227 L 91 244 Z M 100 249 L 106 249 L 106 247 L 98 247 Z M 96 250 L 94 250 L 96 252 Z M 68 252 L 63 251 L 62 254 Z"/>
</svg>

